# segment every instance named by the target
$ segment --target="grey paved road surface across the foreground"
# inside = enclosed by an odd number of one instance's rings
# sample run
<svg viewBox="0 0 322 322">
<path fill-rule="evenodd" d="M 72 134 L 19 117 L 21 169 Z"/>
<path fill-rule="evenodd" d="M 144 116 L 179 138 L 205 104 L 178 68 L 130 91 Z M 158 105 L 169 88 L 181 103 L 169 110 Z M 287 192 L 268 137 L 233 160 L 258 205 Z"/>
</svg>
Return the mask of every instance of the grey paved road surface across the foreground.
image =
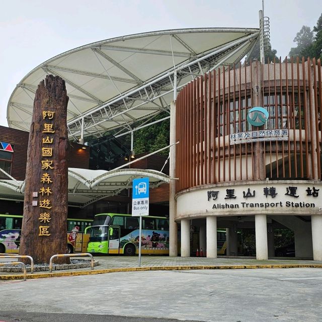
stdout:
<svg viewBox="0 0 322 322">
<path fill-rule="evenodd" d="M 322 319 L 321 289 L 320 268 L 117 272 L 0 281 L 0 320 L 317 322 Z"/>
</svg>

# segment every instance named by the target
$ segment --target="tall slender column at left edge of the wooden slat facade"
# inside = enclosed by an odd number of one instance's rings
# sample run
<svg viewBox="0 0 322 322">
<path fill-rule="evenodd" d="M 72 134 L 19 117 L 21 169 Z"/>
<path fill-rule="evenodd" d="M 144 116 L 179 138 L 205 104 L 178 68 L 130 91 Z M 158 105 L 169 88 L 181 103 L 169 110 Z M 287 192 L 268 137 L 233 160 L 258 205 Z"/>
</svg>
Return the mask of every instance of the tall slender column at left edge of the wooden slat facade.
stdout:
<svg viewBox="0 0 322 322">
<path fill-rule="evenodd" d="M 176 143 L 176 102 L 171 102 L 170 108 L 170 144 L 173 145 L 170 146 L 169 152 L 169 176 L 172 178 L 169 183 L 169 256 L 176 257 L 178 256 L 178 225 L 175 222 L 177 216 L 176 181 L 174 180 L 176 178 L 176 145 L 174 144 Z"/>
</svg>

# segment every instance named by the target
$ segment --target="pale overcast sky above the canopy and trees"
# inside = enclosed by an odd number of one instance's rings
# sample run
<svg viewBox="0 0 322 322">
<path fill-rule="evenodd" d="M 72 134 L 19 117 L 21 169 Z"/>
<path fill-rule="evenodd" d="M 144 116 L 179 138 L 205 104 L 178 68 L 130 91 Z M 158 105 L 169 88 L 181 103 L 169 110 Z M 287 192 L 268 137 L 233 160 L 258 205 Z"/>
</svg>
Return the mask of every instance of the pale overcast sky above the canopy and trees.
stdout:
<svg viewBox="0 0 322 322">
<path fill-rule="evenodd" d="M 265 0 L 271 43 L 285 57 L 303 25 L 311 29 L 321 0 Z M 262 0 L 8 0 L 0 11 L 0 125 L 21 79 L 69 49 L 117 36 L 198 27 L 258 28 Z"/>
</svg>

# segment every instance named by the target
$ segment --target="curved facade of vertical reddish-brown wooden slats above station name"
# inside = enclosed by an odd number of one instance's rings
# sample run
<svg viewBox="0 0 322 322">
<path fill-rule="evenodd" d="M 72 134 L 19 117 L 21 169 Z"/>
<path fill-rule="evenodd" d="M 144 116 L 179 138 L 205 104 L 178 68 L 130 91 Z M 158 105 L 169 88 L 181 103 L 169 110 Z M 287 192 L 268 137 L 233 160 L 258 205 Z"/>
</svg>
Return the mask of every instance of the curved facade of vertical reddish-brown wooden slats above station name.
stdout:
<svg viewBox="0 0 322 322">
<path fill-rule="evenodd" d="M 231 66 L 188 84 L 177 98 L 177 192 L 236 181 L 321 180 L 321 63 Z M 262 127 L 247 114 L 269 112 Z M 288 130 L 287 140 L 230 144 L 237 133 Z"/>
</svg>

